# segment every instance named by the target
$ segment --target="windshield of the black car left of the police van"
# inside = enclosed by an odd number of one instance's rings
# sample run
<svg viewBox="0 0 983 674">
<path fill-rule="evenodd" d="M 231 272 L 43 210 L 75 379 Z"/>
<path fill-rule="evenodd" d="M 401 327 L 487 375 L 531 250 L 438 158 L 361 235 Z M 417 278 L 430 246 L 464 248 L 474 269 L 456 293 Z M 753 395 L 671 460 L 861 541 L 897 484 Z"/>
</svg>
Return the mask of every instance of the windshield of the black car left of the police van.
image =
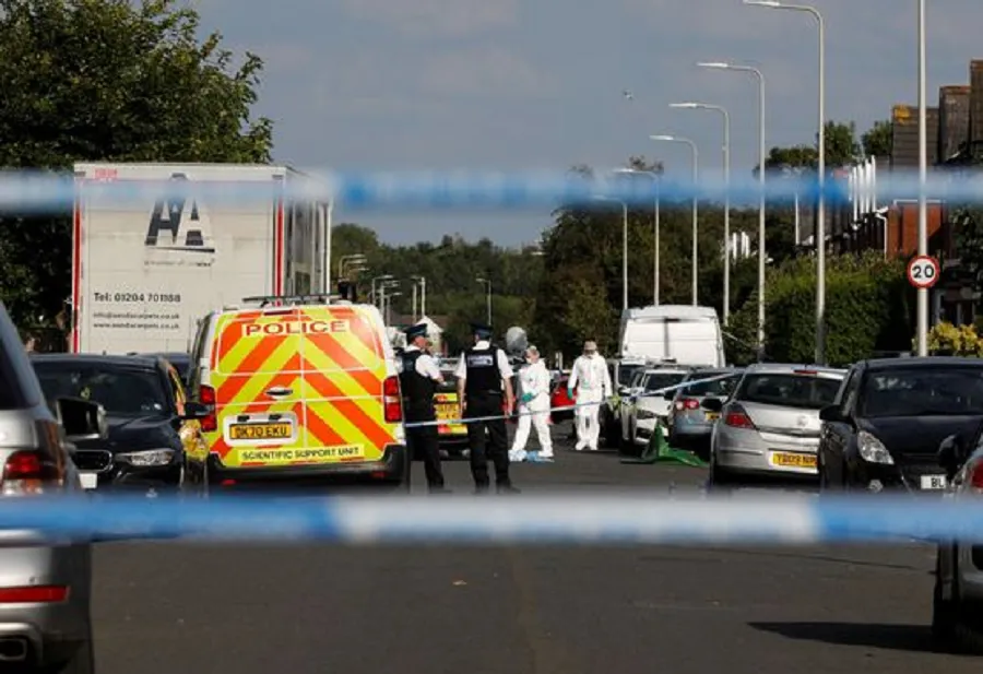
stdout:
<svg viewBox="0 0 983 674">
<path fill-rule="evenodd" d="M 111 416 L 165 415 L 169 405 L 152 369 L 109 363 L 35 362 L 34 371 L 45 398 L 84 398 L 99 403 Z"/>
</svg>

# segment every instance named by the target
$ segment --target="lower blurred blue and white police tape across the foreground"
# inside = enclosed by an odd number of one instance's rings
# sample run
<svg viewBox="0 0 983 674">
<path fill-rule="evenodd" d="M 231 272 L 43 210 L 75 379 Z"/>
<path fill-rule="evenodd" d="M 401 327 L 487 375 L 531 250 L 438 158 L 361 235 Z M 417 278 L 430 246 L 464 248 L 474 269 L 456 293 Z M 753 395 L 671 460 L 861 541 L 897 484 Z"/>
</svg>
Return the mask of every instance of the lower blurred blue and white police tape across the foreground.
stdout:
<svg viewBox="0 0 983 674">
<path fill-rule="evenodd" d="M 330 544 L 983 542 L 983 500 L 917 496 L 534 495 L 0 500 L 0 540 L 159 537 Z"/>
</svg>

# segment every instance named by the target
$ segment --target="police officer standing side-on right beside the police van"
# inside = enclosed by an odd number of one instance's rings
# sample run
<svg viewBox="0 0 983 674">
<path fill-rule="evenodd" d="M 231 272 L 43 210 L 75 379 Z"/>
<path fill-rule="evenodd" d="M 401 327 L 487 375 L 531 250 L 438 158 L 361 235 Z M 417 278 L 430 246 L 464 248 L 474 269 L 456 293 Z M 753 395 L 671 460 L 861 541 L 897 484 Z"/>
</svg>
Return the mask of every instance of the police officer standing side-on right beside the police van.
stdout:
<svg viewBox="0 0 983 674">
<path fill-rule="evenodd" d="M 400 386 L 403 390 L 403 413 L 406 424 L 436 422 L 434 393 L 443 376 L 437 362 L 426 353 L 427 326 L 419 323 L 406 329 L 407 346 L 401 358 Z M 439 431 L 436 424 L 406 428 L 406 449 L 411 461 L 417 454 L 424 462 L 430 494 L 445 494 L 443 471 L 440 466 Z"/>
</svg>

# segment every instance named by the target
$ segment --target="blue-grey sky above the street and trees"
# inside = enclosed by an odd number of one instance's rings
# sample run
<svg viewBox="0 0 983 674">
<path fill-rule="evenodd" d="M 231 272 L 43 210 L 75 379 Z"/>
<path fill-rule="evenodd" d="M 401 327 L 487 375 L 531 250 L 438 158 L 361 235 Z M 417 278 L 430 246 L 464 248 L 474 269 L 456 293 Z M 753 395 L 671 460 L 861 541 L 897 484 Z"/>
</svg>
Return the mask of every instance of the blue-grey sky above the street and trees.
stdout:
<svg viewBox="0 0 983 674">
<path fill-rule="evenodd" d="M 719 175 L 721 117 L 675 110 L 697 100 L 731 114 L 732 174 L 757 163 L 757 85 L 766 143 L 814 142 L 818 31 L 809 14 L 739 0 L 191 0 L 203 29 L 267 63 L 257 113 L 274 120 L 274 158 L 317 170 L 553 169 L 623 166 L 629 155 Z M 980 0 L 929 2 L 928 104 L 969 83 L 983 58 Z M 815 0 L 826 24 L 827 118 L 858 133 L 917 103 L 915 0 Z M 630 91 L 630 98 L 624 95 Z M 352 212 L 391 244 L 460 234 L 514 246 L 538 240 L 548 212 Z"/>
</svg>

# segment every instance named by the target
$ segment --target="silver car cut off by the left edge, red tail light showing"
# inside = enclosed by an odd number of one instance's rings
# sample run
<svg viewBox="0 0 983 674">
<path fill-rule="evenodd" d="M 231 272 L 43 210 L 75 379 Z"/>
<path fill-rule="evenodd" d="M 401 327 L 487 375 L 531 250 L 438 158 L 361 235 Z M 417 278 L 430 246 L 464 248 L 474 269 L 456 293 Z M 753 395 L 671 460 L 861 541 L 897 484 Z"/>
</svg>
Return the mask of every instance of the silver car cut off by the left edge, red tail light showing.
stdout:
<svg viewBox="0 0 983 674">
<path fill-rule="evenodd" d="M 54 407 L 0 303 L 0 498 L 84 494 L 70 441 L 104 436 L 104 412 L 73 399 Z M 0 531 L 0 669 L 94 671 L 91 559 L 88 541 Z"/>
</svg>

